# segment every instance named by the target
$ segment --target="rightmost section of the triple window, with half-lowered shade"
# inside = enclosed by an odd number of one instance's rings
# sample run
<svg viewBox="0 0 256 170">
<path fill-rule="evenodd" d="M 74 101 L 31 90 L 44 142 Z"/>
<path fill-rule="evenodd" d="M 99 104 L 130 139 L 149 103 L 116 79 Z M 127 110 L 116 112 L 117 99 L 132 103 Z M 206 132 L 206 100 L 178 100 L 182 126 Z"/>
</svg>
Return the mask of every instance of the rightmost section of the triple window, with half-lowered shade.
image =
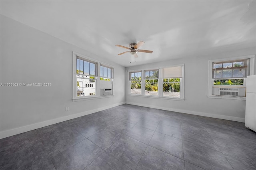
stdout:
<svg viewBox="0 0 256 170">
<path fill-rule="evenodd" d="M 182 66 L 162 69 L 163 97 L 181 97 Z"/>
</svg>

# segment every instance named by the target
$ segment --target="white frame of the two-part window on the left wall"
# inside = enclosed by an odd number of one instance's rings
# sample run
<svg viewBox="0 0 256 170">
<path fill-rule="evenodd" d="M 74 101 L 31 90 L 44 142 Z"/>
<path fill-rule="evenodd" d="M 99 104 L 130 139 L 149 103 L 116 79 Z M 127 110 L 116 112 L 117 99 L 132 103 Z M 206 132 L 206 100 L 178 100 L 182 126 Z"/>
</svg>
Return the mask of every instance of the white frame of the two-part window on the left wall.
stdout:
<svg viewBox="0 0 256 170">
<path fill-rule="evenodd" d="M 88 96 L 77 96 L 77 74 L 76 74 L 76 58 L 77 56 L 82 57 L 83 59 L 86 59 L 88 61 L 92 61 L 97 63 L 98 69 L 97 73 L 94 76 L 96 83 L 95 83 L 95 95 L 88 95 Z M 105 67 L 112 68 L 112 95 L 102 95 L 102 89 L 101 88 L 101 81 L 100 81 L 100 65 L 104 65 Z M 80 53 L 76 53 L 73 51 L 73 102 L 75 101 L 83 101 L 83 100 L 90 100 L 90 99 L 99 99 L 99 98 L 105 98 L 105 97 L 113 97 L 114 96 L 114 67 L 110 66 L 106 63 L 102 63 L 98 60 L 92 59 L 90 57 L 87 57 L 85 55 L 82 55 Z"/>
</svg>

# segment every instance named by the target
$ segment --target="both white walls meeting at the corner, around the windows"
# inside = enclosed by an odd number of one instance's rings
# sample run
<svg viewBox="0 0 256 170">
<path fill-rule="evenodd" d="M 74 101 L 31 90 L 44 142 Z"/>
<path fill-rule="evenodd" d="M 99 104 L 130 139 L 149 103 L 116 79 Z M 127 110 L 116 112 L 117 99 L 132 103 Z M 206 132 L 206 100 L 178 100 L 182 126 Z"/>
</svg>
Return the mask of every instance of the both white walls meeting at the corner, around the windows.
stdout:
<svg viewBox="0 0 256 170">
<path fill-rule="evenodd" d="M 89 51 L 2 15 L 0 34 L 0 83 L 52 84 L 50 87 L 0 87 L 0 138 L 94 113 L 123 103 L 244 121 L 245 101 L 210 99 L 207 97 L 208 60 L 255 54 L 255 47 L 218 55 L 209 54 L 201 57 L 191 55 L 184 59 L 125 69 L 116 63 L 109 63 L 106 59 Z M 114 66 L 114 97 L 72 101 L 72 51 Z M 129 85 L 126 70 L 182 63 L 185 63 L 185 101 L 127 95 Z M 124 93 L 125 87 L 126 95 Z M 65 107 L 70 107 L 70 111 L 66 112 Z"/>
</svg>

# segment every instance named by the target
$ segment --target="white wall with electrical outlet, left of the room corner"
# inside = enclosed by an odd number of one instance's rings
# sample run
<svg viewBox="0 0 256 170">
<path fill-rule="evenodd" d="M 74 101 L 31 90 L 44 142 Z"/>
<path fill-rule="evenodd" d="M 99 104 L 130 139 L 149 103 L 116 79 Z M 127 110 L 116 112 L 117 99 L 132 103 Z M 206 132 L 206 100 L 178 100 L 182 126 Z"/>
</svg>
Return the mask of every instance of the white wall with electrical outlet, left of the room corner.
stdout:
<svg viewBox="0 0 256 170">
<path fill-rule="evenodd" d="M 114 66 L 114 97 L 72 101 L 73 51 Z M 124 67 L 2 15 L 0 73 L 0 83 L 51 83 L 1 87 L 1 138 L 125 102 Z"/>
</svg>

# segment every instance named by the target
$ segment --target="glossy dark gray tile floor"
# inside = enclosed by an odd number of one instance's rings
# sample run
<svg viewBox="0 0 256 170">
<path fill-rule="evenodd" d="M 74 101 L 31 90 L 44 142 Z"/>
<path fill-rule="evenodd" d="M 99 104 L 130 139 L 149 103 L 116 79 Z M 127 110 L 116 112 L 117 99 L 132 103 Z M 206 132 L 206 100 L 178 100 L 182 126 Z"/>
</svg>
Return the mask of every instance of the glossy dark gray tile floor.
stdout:
<svg viewBox="0 0 256 170">
<path fill-rule="evenodd" d="M 0 140 L 1 170 L 255 170 L 244 123 L 121 105 Z"/>
</svg>

